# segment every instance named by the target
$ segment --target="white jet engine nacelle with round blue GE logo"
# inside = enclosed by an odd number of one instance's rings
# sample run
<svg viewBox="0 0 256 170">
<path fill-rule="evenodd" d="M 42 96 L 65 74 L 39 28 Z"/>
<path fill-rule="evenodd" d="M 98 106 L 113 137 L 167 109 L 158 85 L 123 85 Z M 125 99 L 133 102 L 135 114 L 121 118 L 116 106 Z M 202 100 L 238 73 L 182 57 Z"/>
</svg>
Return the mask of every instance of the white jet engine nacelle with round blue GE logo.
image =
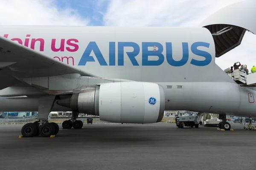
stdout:
<svg viewBox="0 0 256 170">
<path fill-rule="evenodd" d="M 156 83 L 113 82 L 57 103 L 108 122 L 155 123 L 163 119 L 165 95 Z"/>
</svg>

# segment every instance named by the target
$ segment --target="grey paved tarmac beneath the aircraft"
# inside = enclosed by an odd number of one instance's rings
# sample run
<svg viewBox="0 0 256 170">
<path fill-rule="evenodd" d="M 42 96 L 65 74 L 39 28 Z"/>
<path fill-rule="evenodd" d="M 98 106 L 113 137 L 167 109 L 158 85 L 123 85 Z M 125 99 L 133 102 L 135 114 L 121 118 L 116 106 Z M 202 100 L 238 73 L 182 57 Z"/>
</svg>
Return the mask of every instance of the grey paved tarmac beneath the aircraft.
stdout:
<svg viewBox="0 0 256 170">
<path fill-rule="evenodd" d="M 0 170 L 255 170 L 256 131 L 232 124 L 84 125 L 55 138 L 21 138 L 22 125 L 0 125 Z"/>
</svg>

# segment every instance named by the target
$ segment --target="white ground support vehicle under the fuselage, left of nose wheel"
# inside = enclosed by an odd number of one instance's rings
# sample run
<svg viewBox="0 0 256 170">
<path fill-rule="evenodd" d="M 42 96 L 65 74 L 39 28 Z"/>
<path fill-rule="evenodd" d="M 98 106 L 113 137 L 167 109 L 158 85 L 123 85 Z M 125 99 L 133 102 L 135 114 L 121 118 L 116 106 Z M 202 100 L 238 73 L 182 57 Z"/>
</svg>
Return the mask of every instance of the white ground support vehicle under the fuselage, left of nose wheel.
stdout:
<svg viewBox="0 0 256 170">
<path fill-rule="evenodd" d="M 201 118 L 203 113 L 198 112 L 197 115 L 184 115 L 184 116 L 176 116 L 175 122 L 176 126 L 179 128 L 183 128 L 184 126 L 187 127 L 194 127 L 198 128 L 199 124 L 202 124 Z"/>
</svg>

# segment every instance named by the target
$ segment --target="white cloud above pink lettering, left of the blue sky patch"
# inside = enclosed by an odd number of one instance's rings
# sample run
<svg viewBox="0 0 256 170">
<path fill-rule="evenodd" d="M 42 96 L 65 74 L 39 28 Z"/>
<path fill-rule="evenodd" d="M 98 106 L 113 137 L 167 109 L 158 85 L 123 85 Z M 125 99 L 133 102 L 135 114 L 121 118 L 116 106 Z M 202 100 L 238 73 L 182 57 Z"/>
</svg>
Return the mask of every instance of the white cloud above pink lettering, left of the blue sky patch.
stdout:
<svg viewBox="0 0 256 170">
<path fill-rule="evenodd" d="M 87 25 L 89 19 L 54 0 L 0 0 L 1 25 Z"/>
</svg>

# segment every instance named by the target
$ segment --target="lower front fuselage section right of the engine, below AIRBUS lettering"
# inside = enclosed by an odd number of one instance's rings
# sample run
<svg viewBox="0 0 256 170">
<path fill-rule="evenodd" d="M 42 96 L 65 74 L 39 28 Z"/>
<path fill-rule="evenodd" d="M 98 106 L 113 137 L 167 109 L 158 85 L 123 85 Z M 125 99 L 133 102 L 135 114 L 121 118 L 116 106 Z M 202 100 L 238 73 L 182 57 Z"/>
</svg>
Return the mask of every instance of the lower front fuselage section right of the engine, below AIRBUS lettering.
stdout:
<svg viewBox="0 0 256 170">
<path fill-rule="evenodd" d="M 168 111 L 187 110 L 205 113 L 256 117 L 256 91 L 228 82 L 172 82 L 164 87 Z M 172 88 L 167 88 L 172 86 Z M 177 88 L 177 87 L 180 88 Z M 169 102 L 168 102 L 169 101 Z"/>
</svg>

